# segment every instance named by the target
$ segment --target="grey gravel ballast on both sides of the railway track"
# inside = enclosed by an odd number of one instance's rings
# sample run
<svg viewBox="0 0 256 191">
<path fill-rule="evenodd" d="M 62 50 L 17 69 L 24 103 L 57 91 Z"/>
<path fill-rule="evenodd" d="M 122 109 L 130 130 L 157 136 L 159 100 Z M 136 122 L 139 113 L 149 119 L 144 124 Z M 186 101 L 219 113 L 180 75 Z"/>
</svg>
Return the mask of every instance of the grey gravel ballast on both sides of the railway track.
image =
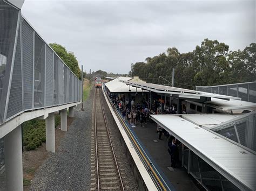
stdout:
<svg viewBox="0 0 256 191">
<path fill-rule="evenodd" d="M 73 122 L 70 124 L 68 132 L 60 142 L 56 153 L 49 153 L 49 158 L 35 173 L 30 189 L 37 190 L 89 190 L 91 182 L 90 157 L 91 157 L 91 121 L 92 104 L 95 89 L 93 88 L 87 98 L 84 108 L 80 111 L 80 106 L 75 108 Z M 104 111 L 111 135 L 119 132 L 116 122 L 104 100 Z M 111 136 L 114 152 L 116 153 L 119 167 L 124 172 L 127 190 L 138 190 L 136 180 L 132 175 L 129 162 L 122 147 L 120 139 Z"/>
</svg>

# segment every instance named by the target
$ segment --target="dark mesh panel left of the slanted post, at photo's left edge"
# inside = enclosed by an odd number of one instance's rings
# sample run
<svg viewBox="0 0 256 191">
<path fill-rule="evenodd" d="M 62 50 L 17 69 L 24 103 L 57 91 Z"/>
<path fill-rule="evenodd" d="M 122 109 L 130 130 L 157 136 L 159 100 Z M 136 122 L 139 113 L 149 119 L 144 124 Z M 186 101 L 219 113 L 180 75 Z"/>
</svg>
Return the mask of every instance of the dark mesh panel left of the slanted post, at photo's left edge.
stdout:
<svg viewBox="0 0 256 191">
<path fill-rule="evenodd" d="M 3 122 L 14 52 L 18 10 L 0 1 L 0 123 Z"/>
</svg>

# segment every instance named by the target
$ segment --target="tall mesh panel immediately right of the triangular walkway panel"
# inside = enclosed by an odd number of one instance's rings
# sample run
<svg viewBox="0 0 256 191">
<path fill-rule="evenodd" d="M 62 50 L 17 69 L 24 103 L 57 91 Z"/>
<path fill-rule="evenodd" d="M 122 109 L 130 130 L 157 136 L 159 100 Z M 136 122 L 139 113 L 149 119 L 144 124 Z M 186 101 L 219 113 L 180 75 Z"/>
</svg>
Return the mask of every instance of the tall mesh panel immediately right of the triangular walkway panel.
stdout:
<svg viewBox="0 0 256 191">
<path fill-rule="evenodd" d="M 33 104 L 33 29 L 22 22 L 23 48 L 23 89 L 24 109 L 32 109 Z"/>
</svg>

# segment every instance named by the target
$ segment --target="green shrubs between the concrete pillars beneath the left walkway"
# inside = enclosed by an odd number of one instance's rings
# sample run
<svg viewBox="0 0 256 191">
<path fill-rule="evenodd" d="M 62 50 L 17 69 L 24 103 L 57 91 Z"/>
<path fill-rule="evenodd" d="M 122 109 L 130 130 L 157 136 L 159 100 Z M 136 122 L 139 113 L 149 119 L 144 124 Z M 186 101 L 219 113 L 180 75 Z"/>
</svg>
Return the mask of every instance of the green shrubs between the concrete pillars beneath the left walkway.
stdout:
<svg viewBox="0 0 256 191">
<path fill-rule="evenodd" d="M 60 116 L 55 115 L 55 128 L 60 124 Z M 45 121 L 32 119 L 23 123 L 23 146 L 25 150 L 35 150 L 45 143 Z"/>
</svg>

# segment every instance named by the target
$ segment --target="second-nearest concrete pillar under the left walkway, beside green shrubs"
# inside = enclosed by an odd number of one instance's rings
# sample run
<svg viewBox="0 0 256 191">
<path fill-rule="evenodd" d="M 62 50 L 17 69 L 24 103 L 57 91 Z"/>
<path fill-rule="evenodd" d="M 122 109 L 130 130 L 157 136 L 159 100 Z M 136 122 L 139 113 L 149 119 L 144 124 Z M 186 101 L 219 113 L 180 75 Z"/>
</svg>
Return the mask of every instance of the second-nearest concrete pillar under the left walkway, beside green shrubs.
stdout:
<svg viewBox="0 0 256 191">
<path fill-rule="evenodd" d="M 45 119 L 46 151 L 55 153 L 55 118 L 54 113 Z"/>
</svg>

